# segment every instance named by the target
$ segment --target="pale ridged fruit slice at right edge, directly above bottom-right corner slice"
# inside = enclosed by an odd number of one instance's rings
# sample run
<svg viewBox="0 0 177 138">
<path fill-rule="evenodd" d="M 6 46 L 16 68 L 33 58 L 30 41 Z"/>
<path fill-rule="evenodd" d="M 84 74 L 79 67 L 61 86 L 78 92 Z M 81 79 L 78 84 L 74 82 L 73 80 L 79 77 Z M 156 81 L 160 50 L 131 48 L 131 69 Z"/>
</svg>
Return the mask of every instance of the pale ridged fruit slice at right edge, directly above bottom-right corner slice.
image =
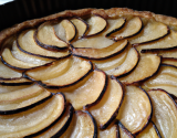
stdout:
<svg viewBox="0 0 177 138">
<path fill-rule="evenodd" d="M 174 66 L 160 66 L 158 73 L 143 83 L 146 88 L 163 88 L 177 96 L 177 68 Z"/>
</svg>

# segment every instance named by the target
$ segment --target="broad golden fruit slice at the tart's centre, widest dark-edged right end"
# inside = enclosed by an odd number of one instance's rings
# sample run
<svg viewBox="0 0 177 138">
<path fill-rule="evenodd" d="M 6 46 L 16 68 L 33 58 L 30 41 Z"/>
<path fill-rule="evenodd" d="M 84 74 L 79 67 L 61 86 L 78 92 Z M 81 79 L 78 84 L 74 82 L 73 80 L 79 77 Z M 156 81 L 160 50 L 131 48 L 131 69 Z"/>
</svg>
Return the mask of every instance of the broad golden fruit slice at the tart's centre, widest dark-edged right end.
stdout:
<svg viewBox="0 0 177 138">
<path fill-rule="evenodd" d="M 95 105 L 102 99 L 107 86 L 107 77 L 105 73 L 94 70 L 81 83 L 79 87 L 74 85 L 75 88 L 70 88 L 66 92 L 62 91 L 76 110 L 86 105 Z"/>
</svg>

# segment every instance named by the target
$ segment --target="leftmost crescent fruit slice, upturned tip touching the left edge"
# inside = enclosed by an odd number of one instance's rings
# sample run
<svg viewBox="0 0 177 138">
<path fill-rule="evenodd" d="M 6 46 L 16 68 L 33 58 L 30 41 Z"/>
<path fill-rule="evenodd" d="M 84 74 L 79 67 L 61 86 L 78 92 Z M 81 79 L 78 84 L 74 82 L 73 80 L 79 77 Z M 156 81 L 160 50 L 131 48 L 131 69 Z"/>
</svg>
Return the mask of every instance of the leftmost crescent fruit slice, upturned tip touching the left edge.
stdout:
<svg viewBox="0 0 177 138">
<path fill-rule="evenodd" d="M 3 64 L 15 70 L 30 70 L 39 66 L 37 64 L 25 63 L 23 61 L 15 59 L 8 47 L 3 50 L 1 61 Z"/>
</svg>

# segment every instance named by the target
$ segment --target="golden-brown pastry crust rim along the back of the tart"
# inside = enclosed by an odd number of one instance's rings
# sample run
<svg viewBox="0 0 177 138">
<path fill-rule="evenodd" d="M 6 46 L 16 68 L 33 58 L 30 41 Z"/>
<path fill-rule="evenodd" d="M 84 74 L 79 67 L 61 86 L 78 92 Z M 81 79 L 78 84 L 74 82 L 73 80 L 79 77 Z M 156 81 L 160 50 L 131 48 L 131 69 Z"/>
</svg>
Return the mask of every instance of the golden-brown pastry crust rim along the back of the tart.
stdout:
<svg viewBox="0 0 177 138">
<path fill-rule="evenodd" d="M 66 10 L 63 12 L 59 12 L 55 14 L 51 14 L 49 17 L 44 17 L 41 19 L 34 19 L 34 20 L 29 20 L 24 21 L 22 23 L 19 23 L 12 28 L 6 29 L 0 32 L 0 46 L 4 42 L 4 40 L 13 34 L 19 33 L 20 31 L 29 28 L 35 28 L 37 25 L 43 23 L 44 21 L 49 20 L 58 20 L 58 19 L 63 19 L 63 18 L 72 18 L 72 17 L 84 17 L 88 14 L 100 14 L 103 18 L 116 18 L 116 17 L 123 17 L 123 15 L 138 15 L 142 18 L 147 18 L 147 19 L 154 19 L 156 21 L 163 22 L 167 24 L 169 28 L 173 30 L 177 30 L 177 19 L 167 17 L 167 15 L 162 15 L 162 14 L 155 14 L 149 11 L 135 11 L 132 9 L 127 8 L 112 8 L 108 10 L 104 9 L 81 9 L 81 10 Z"/>
</svg>

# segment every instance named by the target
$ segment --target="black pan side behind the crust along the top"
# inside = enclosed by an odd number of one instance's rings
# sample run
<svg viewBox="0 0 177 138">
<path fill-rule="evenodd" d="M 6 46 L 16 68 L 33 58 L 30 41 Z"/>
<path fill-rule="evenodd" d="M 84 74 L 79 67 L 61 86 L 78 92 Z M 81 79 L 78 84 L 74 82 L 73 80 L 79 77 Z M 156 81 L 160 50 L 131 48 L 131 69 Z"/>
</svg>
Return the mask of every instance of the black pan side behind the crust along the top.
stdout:
<svg viewBox="0 0 177 138">
<path fill-rule="evenodd" d="M 177 0 L 15 0 L 0 6 L 0 30 L 64 10 L 115 7 L 177 18 Z"/>
</svg>

